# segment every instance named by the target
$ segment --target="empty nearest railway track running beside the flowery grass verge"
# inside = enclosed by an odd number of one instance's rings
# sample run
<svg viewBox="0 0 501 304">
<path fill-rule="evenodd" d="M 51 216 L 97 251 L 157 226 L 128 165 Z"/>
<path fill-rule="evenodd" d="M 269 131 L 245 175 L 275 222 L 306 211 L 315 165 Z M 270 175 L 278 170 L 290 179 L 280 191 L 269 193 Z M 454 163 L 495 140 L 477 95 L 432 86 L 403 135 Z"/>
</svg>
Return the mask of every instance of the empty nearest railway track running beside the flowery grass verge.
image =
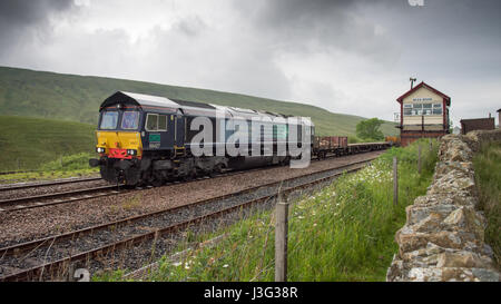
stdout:
<svg viewBox="0 0 501 304">
<path fill-rule="evenodd" d="M 297 190 L 330 182 L 345 171 L 361 169 L 374 158 L 194 202 L 175 208 L 0 248 L 2 272 L 6 272 L 6 265 L 11 267 L 7 268 L 8 274 L 1 274 L 0 281 L 60 277 L 61 273 L 67 272 L 72 263 L 100 259 L 108 253 L 180 232 L 187 227 L 206 223 L 263 202 L 271 202 L 278 196 L 278 192 L 281 195 L 287 196 Z M 301 180 L 311 176 L 316 177 L 313 180 Z M 73 252 L 73 247 L 79 247 L 79 249 Z M 53 252 L 50 258 L 48 258 L 49 252 Z M 20 256 L 23 257 L 19 258 Z M 40 256 L 45 256 L 45 258 L 40 261 Z M 36 266 L 29 265 L 30 263 L 21 263 L 26 259 L 37 259 L 37 257 L 38 265 Z M 46 259 L 50 261 L 47 262 Z M 11 271 L 9 272 L 9 269 Z"/>
</svg>

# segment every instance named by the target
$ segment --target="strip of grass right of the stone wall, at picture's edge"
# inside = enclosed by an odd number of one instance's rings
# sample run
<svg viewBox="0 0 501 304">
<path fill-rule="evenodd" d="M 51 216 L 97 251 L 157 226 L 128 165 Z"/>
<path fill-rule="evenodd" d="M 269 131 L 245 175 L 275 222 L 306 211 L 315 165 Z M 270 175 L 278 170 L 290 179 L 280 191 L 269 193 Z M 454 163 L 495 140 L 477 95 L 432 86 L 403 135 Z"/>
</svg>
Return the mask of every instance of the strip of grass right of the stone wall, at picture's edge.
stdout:
<svg viewBox="0 0 501 304">
<path fill-rule="evenodd" d="M 489 144 L 473 159 L 480 205 L 488 220 L 485 242 L 492 246 L 501 268 L 501 144 Z"/>
</svg>

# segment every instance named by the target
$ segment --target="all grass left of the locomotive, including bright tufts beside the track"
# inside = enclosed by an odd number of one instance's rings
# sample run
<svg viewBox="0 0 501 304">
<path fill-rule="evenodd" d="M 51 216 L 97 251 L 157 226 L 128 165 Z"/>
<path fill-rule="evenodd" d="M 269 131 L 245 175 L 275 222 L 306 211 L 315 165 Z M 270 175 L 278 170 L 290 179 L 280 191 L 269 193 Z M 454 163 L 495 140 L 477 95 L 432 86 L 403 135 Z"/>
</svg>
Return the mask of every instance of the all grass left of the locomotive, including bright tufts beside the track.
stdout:
<svg viewBox="0 0 501 304">
<path fill-rule="evenodd" d="M 80 122 L 0 116 L 0 184 L 90 176 L 94 127 Z M 21 138 L 21 140 L 20 140 Z M 90 151 L 89 151 L 90 150 Z"/>
</svg>

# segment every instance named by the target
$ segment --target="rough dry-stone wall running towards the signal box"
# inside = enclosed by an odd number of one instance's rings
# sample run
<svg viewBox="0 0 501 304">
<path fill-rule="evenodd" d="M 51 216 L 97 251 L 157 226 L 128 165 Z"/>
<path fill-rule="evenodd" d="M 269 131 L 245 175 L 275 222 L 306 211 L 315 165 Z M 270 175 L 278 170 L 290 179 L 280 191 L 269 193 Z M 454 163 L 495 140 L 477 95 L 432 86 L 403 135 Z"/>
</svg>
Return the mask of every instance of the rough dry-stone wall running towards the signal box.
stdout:
<svg viewBox="0 0 501 304">
<path fill-rule="evenodd" d="M 396 232 L 399 253 L 386 281 L 500 281 L 493 252 L 484 243 L 485 218 L 475 209 L 472 158 L 485 141 L 501 141 L 501 130 L 441 138 L 433 182 L 405 209 L 406 224 Z"/>
</svg>

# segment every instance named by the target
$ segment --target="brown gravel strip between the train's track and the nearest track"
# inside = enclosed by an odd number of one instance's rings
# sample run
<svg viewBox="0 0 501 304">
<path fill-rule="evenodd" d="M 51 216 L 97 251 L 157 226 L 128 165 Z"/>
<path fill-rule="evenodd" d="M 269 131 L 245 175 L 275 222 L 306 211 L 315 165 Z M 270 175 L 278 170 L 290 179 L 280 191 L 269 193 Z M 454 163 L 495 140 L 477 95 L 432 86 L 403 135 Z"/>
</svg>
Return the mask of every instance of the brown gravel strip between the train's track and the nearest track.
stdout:
<svg viewBox="0 0 501 304">
<path fill-rule="evenodd" d="M 71 204 L 4 213 L 0 214 L 0 247 L 336 168 L 356 160 L 373 158 L 380 154 L 382 151 L 313 161 L 304 169 L 273 167 Z"/>
</svg>

